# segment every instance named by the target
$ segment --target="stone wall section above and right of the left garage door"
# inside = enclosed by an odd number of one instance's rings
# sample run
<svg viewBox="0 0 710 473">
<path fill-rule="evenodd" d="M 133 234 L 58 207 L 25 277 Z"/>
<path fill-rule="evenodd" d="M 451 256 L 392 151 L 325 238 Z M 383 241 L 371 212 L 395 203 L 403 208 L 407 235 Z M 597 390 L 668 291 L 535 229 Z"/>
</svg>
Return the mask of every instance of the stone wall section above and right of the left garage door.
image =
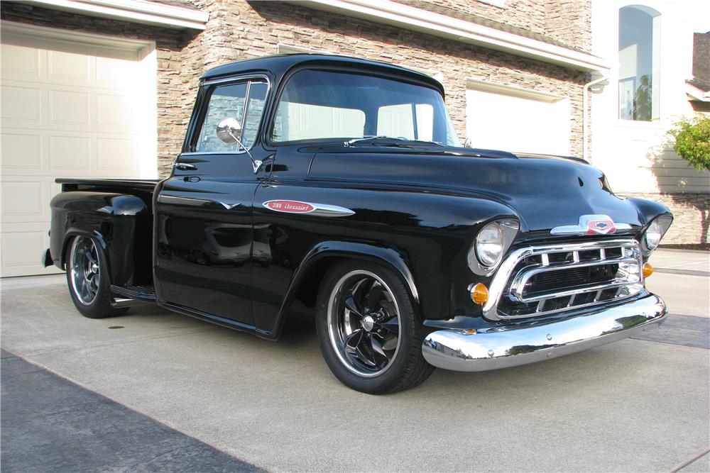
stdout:
<svg viewBox="0 0 710 473">
<path fill-rule="evenodd" d="M 175 160 L 182 146 L 183 134 L 190 118 L 190 106 L 194 100 L 194 97 L 186 94 L 185 86 L 197 82 L 202 73 L 195 60 L 191 61 L 189 67 L 185 67 L 182 52 L 195 39 L 197 31 L 75 15 L 11 1 L 0 2 L 0 18 L 48 28 L 155 41 L 158 61 L 158 164 L 161 174 L 168 172 L 170 163 Z"/>
</svg>

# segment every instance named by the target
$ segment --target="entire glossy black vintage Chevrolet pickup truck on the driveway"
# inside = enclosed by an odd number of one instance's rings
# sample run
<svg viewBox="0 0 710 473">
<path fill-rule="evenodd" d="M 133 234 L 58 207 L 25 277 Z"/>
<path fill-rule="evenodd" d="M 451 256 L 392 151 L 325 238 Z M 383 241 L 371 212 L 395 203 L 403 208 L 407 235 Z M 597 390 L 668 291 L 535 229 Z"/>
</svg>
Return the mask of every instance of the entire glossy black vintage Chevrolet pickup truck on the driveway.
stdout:
<svg viewBox="0 0 710 473">
<path fill-rule="evenodd" d="M 372 394 L 666 314 L 644 280 L 667 208 L 578 158 L 462 147 L 442 85 L 381 62 L 216 67 L 170 177 L 58 182 L 44 263 L 84 316 L 153 301 L 275 340 L 298 301 L 335 376 Z"/>
</svg>

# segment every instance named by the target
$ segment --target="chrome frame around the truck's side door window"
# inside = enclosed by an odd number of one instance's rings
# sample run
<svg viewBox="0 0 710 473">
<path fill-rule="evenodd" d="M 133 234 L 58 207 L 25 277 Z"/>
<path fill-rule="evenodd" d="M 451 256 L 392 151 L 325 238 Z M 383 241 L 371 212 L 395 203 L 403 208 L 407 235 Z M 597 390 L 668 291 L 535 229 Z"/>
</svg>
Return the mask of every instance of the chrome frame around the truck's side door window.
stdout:
<svg viewBox="0 0 710 473">
<path fill-rule="evenodd" d="M 253 82 L 266 82 L 266 96 L 264 97 L 264 107 L 261 111 L 261 117 L 259 117 L 258 130 L 256 136 L 254 137 L 254 142 L 251 143 L 249 151 L 253 150 L 259 143 L 261 143 L 261 135 L 263 130 L 263 121 L 268 112 L 269 98 L 271 96 L 271 79 L 266 74 L 249 74 L 239 77 L 221 77 L 219 79 L 209 79 L 200 84 L 200 88 L 204 94 L 202 101 L 199 104 L 200 111 L 197 116 L 195 116 L 195 128 L 193 128 L 192 135 L 190 136 L 190 143 L 187 145 L 187 152 L 182 152 L 181 156 L 190 155 L 244 155 L 247 150 L 239 147 L 239 151 L 197 151 L 197 140 L 200 139 L 200 133 L 202 133 L 202 127 L 204 126 L 204 120 L 207 116 L 207 109 L 209 108 L 209 100 L 212 99 L 212 94 L 220 86 L 238 85 L 241 83 L 247 83 L 246 96 L 244 97 L 244 116 L 242 120 L 246 118 L 249 113 L 249 93 L 251 91 L 251 84 Z M 244 123 L 242 123 L 244 127 Z"/>
</svg>

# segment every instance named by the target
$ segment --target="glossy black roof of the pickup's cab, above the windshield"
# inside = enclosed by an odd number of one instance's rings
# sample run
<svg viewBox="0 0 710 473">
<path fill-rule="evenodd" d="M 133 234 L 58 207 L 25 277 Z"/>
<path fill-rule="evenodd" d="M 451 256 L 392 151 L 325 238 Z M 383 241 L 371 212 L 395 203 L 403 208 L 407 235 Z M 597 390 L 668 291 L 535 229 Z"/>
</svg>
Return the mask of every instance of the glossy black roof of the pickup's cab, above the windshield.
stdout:
<svg viewBox="0 0 710 473">
<path fill-rule="evenodd" d="M 405 67 L 395 66 L 387 62 L 370 61 L 359 59 L 358 57 L 327 55 L 327 54 L 285 54 L 263 56 L 256 59 L 248 59 L 243 61 L 231 62 L 222 66 L 213 67 L 205 72 L 202 76 L 203 81 L 229 77 L 235 74 L 244 74 L 249 72 L 270 72 L 273 74 L 275 81 L 278 83 L 283 76 L 294 67 L 346 67 L 348 69 L 359 69 L 363 72 L 380 72 L 391 74 L 393 76 L 402 77 L 405 79 L 415 79 L 418 82 L 425 82 L 431 87 L 439 90 L 444 95 L 444 87 L 441 82 L 433 77 L 423 74 L 422 72 L 406 69 Z"/>
</svg>

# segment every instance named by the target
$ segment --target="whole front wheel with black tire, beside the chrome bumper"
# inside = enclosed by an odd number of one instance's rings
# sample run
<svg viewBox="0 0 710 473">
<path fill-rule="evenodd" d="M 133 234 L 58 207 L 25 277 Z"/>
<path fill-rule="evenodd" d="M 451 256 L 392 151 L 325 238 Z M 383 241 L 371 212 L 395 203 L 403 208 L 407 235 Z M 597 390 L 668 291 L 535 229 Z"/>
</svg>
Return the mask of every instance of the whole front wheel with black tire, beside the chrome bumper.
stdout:
<svg viewBox="0 0 710 473">
<path fill-rule="evenodd" d="M 434 369 L 422 356 L 424 327 L 407 286 L 382 265 L 348 260 L 329 269 L 318 292 L 316 326 L 328 367 L 356 391 L 402 391 Z"/>
</svg>

